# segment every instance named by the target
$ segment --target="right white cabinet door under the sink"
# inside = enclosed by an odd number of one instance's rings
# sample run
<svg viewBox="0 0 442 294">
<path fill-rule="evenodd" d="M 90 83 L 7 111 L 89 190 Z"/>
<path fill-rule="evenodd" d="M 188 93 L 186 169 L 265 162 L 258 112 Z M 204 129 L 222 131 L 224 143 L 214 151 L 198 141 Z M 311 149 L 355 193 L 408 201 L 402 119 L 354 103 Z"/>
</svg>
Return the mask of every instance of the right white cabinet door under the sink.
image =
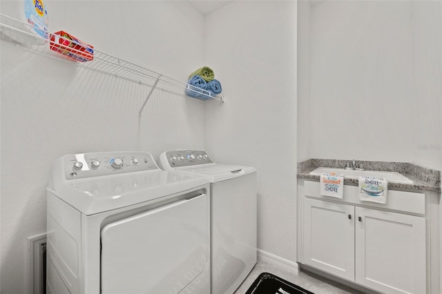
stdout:
<svg viewBox="0 0 442 294">
<path fill-rule="evenodd" d="M 356 207 L 356 282 L 383 293 L 425 292 L 425 218 Z"/>
</svg>

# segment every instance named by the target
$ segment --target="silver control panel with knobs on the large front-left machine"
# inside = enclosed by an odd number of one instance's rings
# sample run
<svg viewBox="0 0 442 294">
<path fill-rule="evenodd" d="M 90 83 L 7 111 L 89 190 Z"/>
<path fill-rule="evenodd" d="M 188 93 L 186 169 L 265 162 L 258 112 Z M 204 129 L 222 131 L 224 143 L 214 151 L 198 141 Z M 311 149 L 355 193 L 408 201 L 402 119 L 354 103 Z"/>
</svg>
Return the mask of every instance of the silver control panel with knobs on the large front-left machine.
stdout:
<svg viewBox="0 0 442 294">
<path fill-rule="evenodd" d="M 158 169 L 147 152 L 81 153 L 66 155 L 62 160 L 66 179 Z"/>
</svg>

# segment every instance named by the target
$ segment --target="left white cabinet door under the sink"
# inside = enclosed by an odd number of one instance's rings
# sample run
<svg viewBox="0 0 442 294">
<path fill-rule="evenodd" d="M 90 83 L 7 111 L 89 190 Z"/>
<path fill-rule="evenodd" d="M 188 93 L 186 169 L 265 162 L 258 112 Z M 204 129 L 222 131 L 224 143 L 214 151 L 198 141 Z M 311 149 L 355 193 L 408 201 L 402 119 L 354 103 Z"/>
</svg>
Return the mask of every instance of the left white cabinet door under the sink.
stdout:
<svg viewBox="0 0 442 294">
<path fill-rule="evenodd" d="M 354 280 L 354 206 L 304 199 L 304 262 Z"/>
</svg>

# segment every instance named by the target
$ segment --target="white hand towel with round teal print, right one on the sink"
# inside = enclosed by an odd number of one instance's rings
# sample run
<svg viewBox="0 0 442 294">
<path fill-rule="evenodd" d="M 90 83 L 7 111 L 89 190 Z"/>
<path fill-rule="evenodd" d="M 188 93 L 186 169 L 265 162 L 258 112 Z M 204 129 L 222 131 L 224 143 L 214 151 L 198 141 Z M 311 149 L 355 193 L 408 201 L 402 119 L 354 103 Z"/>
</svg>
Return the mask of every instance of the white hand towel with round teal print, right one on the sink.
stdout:
<svg viewBox="0 0 442 294">
<path fill-rule="evenodd" d="M 359 177 L 359 199 L 387 203 L 388 182 L 383 177 Z"/>
</svg>

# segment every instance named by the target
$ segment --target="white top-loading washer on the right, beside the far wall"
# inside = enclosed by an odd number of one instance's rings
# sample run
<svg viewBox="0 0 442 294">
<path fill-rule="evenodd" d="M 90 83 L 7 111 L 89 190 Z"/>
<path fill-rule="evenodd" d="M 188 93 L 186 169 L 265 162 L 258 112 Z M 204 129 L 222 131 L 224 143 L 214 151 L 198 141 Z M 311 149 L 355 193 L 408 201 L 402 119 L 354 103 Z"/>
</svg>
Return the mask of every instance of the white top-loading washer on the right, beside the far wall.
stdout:
<svg viewBox="0 0 442 294">
<path fill-rule="evenodd" d="M 256 170 L 215 164 L 204 150 L 160 155 L 164 170 L 211 183 L 211 293 L 231 294 L 256 264 Z"/>
</svg>

